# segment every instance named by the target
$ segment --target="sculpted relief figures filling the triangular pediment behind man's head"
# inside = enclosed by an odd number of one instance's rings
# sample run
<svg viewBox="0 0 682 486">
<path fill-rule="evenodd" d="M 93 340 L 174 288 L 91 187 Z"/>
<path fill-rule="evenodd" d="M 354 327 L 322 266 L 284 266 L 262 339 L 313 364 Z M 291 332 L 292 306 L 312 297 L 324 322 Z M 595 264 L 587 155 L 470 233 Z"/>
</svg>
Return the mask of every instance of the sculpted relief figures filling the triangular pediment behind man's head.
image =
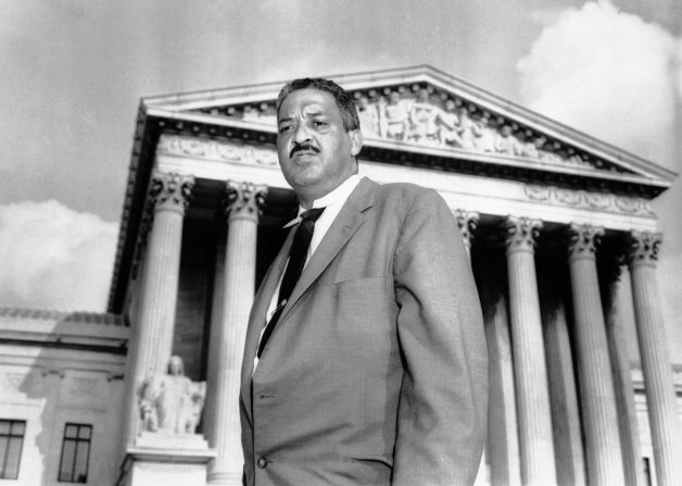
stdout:
<svg viewBox="0 0 682 486">
<path fill-rule="evenodd" d="M 366 139 L 494 153 L 588 170 L 601 167 L 586 154 L 558 140 L 548 140 L 517 122 L 431 86 L 394 86 L 355 91 L 354 96 Z M 211 113 L 273 127 L 277 123 L 271 102 L 227 107 Z"/>
</svg>

